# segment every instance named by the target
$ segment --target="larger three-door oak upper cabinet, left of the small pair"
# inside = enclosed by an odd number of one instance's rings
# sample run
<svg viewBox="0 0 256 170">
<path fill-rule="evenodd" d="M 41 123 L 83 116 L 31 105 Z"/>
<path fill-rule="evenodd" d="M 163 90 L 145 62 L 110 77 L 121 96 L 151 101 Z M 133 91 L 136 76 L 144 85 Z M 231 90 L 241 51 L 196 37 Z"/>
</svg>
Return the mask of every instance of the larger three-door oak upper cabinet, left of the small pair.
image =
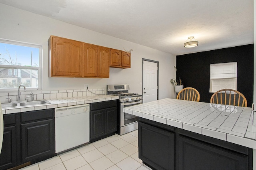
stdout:
<svg viewBox="0 0 256 170">
<path fill-rule="evenodd" d="M 48 42 L 49 77 L 109 78 L 110 48 L 56 36 Z"/>
</svg>

